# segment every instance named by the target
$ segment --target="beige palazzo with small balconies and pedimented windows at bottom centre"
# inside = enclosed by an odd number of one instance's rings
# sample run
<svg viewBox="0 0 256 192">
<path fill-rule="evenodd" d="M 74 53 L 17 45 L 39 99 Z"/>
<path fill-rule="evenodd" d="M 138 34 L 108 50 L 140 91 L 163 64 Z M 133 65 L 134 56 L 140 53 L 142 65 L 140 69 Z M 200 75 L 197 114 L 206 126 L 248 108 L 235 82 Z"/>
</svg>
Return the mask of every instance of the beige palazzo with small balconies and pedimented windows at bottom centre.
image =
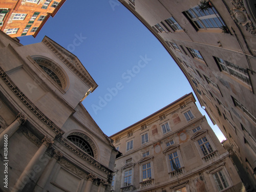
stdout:
<svg viewBox="0 0 256 192">
<path fill-rule="evenodd" d="M 192 93 L 110 137 L 112 191 L 245 191 Z"/>
</svg>

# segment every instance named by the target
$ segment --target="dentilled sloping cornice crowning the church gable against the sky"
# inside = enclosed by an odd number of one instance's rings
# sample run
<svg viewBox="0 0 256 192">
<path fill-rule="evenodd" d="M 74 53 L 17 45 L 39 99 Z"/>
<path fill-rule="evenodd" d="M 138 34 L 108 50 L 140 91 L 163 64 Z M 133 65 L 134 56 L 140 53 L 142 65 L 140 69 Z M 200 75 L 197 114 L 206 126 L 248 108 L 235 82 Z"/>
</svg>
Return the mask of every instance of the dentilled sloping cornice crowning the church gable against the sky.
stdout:
<svg viewBox="0 0 256 192">
<path fill-rule="evenodd" d="M 70 70 L 72 70 L 80 79 L 82 79 L 88 86 L 91 88 L 91 92 L 93 92 L 97 87 L 97 83 L 88 73 L 86 68 L 83 67 L 80 60 L 71 52 L 61 47 L 55 41 L 45 36 L 42 40 L 44 44 L 63 62 L 65 63 Z"/>
</svg>

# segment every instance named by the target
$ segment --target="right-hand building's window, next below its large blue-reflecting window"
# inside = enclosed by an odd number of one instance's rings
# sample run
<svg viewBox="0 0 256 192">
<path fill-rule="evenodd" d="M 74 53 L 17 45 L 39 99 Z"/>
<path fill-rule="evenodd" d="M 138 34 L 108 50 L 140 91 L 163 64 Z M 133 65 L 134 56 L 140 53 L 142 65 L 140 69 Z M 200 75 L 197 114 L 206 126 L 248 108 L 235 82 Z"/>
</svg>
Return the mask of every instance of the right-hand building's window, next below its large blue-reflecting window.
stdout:
<svg viewBox="0 0 256 192">
<path fill-rule="evenodd" d="M 248 71 L 242 67 L 234 65 L 231 62 L 223 60 L 221 58 L 215 57 L 217 64 L 219 65 L 221 71 L 227 72 L 229 75 L 237 77 L 238 79 L 246 82 L 251 86 Z"/>
</svg>

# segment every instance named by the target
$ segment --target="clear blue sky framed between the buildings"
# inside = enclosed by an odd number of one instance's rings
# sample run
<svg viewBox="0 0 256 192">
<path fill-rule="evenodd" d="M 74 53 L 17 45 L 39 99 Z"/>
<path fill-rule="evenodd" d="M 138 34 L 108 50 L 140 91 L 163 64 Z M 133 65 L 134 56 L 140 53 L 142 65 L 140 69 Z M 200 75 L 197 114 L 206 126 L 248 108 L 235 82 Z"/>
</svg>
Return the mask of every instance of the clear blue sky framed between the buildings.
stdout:
<svg viewBox="0 0 256 192">
<path fill-rule="evenodd" d="M 19 39 L 28 45 L 45 35 L 75 54 L 98 84 L 82 103 L 108 136 L 193 91 L 160 42 L 116 0 L 67 0 L 36 38 Z"/>
</svg>

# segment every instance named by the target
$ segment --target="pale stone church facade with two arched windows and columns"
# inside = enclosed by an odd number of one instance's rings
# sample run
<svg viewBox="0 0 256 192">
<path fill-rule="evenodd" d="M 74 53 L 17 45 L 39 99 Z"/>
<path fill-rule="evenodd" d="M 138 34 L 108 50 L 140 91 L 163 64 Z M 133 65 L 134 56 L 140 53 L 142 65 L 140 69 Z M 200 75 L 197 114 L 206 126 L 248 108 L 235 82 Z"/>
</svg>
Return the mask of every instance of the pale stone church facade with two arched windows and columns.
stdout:
<svg viewBox="0 0 256 192">
<path fill-rule="evenodd" d="M 3 32 L 0 55 L 0 190 L 110 191 L 118 152 L 81 104 L 97 84 L 79 59 Z"/>
</svg>

